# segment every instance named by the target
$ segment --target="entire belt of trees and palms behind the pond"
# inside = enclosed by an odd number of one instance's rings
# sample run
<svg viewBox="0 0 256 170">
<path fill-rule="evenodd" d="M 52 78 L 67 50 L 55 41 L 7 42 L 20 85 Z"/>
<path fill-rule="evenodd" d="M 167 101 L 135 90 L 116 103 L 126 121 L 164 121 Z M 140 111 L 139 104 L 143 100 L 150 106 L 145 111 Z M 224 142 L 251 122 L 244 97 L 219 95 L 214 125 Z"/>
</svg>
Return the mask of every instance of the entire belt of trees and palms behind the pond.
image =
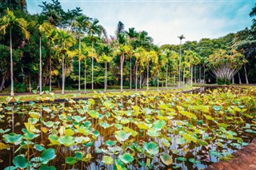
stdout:
<svg viewBox="0 0 256 170">
<path fill-rule="evenodd" d="M 256 6 L 250 28 L 199 42 L 181 35 L 179 45 L 162 46 L 122 22 L 109 36 L 97 18 L 79 7 L 64 11 L 58 0 L 41 8 L 32 15 L 24 0 L 0 1 L 0 92 L 256 83 Z"/>
</svg>

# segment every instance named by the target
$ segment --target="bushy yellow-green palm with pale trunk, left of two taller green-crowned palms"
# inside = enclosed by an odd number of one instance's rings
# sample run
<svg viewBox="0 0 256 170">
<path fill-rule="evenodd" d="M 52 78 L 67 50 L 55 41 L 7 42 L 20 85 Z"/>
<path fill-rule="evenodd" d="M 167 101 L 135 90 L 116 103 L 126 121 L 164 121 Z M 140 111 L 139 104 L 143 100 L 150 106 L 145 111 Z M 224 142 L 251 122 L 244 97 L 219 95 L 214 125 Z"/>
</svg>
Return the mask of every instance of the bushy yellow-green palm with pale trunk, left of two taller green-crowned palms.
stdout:
<svg viewBox="0 0 256 170">
<path fill-rule="evenodd" d="M 65 30 L 57 30 L 56 40 L 58 44 L 61 45 L 61 53 L 62 53 L 62 94 L 64 94 L 65 89 L 65 55 L 69 50 L 70 46 L 74 45 L 75 38 L 72 34 L 66 32 Z"/>
</svg>

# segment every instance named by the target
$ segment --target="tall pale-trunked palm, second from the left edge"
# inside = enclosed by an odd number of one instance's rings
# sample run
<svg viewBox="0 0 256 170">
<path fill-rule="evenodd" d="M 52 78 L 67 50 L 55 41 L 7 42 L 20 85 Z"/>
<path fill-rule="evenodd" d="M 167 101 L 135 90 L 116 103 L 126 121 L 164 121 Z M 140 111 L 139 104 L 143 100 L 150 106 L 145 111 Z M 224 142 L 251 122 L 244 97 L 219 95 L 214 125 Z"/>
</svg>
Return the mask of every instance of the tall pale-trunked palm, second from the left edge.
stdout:
<svg viewBox="0 0 256 170">
<path fill-rule="evenodd" d="M 30 26 L 39 31 L 39 93 L 42 95 L 42 34 L 49 32 L 52 26 L 43 15 L 37 15 L 37 19 L 30 22 Z"/>
</svg>

